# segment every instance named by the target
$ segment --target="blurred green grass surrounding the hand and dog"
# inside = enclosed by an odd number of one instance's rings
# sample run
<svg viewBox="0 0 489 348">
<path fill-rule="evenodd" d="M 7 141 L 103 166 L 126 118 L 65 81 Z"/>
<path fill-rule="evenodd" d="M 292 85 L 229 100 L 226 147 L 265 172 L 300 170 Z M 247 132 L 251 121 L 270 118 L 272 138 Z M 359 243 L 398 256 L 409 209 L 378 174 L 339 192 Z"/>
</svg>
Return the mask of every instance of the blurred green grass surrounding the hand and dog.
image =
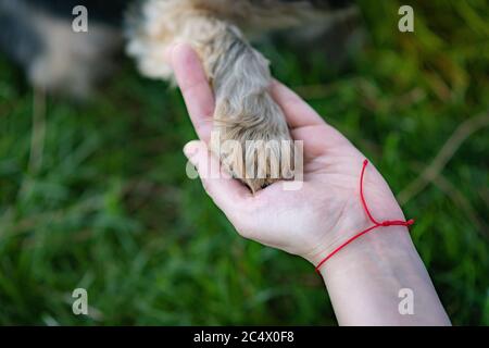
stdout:
<svg viewBox="0 0 489 348">
<path fill-rule="evenodd" d="M 262 45 L 275 76 L 389 182 L 454 324 L 489 324 L 486 0 L 360 1 L 343 70 Z M 43 99 L 0 57 L 0 324 L 335 324 L 306 261 L 241 239 L 187 178 L 180 95 L 125 61 L 95 100 Z M 72 313 L 88 290 L 89 316 Z"/>
</svg>

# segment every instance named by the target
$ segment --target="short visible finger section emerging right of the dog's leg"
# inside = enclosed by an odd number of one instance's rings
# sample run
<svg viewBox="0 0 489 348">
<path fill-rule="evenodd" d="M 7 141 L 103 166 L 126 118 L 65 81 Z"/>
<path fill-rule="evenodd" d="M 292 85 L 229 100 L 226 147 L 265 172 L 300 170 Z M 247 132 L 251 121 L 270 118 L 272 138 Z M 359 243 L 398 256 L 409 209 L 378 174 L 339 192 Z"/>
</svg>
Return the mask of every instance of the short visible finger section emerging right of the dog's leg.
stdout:
<svg viewBox="0 0 489 348">
<path fill-rule="evenodd" d="M 325 124 L 324 120 L 301 97 L 276 79 L 272 83 L 271 94 L 283 109 L 291 129 Z"/>
</svg>

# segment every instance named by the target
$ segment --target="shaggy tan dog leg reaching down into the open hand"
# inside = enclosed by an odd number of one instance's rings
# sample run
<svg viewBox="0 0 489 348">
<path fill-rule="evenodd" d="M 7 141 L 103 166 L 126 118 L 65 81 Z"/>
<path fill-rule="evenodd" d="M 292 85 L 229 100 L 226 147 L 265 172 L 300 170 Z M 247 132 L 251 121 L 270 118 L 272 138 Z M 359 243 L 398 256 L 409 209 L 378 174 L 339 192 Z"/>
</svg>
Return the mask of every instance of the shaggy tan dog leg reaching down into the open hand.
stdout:
<svg viewBox="0 0 489 348">
<path fill-rule="evenodd" d="M 165 48 L 185 41 L 196 49 L 216 101 L 214 134 L 218 141 L 211 141 L 211 150 L 254 192 L 283 178 L 281 165 L 284 161 L 290 164 L 293 156 L 283 111 L 268 94 L 268 62 L 236 26 L 192 4 L 147 1 L 139 16 L 133 17 L 128 52 L 139 60 L 143 74 L 168 78 Z M 237 144 L 238 148 L 229 146 Z"/>
</svg>

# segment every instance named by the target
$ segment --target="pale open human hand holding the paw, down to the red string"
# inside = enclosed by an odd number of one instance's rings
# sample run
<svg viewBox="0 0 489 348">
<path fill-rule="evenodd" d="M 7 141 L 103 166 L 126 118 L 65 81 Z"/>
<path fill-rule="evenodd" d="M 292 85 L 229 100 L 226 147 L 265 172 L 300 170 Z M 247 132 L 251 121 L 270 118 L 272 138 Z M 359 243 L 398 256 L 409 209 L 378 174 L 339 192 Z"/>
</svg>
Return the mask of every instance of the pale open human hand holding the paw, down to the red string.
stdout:
<svg viewBox="0 0 489 348">
<path fill-rule="evenodd" d="M 200 138 L 187 144 L 184 152 L 197 167 L 208 195 L 241 236 L 301 256 L 316 265 L 344 240 L 372 225 L 359 192 L 364 156 L 278 82 L 271 86 L 271 95 L 283 109 L 292 138 L 303 141 L 301 188 L 284 190 L 277 182 L 252 195 L 224 172 L 218 177 L 209 175 L 212 167 L 220 167 L 206 145 L 214 111 L 212 89 L 189 46 L 175 46 L 167 57 Z M 404 219 L 374 166 L 365 172 L 364 185 L 365 198 L 377 220 Z"/>
</svg>

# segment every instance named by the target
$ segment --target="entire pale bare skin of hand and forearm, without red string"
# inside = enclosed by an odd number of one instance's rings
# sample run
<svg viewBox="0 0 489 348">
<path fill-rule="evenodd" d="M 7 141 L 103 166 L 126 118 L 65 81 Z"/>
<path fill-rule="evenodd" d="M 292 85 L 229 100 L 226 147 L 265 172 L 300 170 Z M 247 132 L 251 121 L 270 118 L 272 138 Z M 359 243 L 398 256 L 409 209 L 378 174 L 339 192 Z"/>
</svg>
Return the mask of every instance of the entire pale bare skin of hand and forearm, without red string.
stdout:
<svg viewBox="0 0 489 348">
<path fill-rule="evenodd" d="M 292 138 L 303 141 L 302 187 L 284 190 L 278 182 L 252 195 L 224 172 L 217 178 L 208 175 L 210 163 L 218 167 L 206 147 L 214 111 L 212 89 L 189 46 L 173 46 L 166 57 L 199 136 L 184 152 L 196 165 L 208 195 L 242 237 L 317 265 L 349 237 L 372 226 L 359 192 L 365 157 L 278 82 L 272 84 L 271 94 L 287 117 Z M 364 194 L 378 221 L 405 220 L 372 164 L 365 171 Z M 360 237 L 319 271 L 340 325 L 450 325 L 405 226 L 379 227 Z M 412 314 L 400 313 L 399 303 L 405 296 L 402 289 L 412 290 Z"/>
</svg>

